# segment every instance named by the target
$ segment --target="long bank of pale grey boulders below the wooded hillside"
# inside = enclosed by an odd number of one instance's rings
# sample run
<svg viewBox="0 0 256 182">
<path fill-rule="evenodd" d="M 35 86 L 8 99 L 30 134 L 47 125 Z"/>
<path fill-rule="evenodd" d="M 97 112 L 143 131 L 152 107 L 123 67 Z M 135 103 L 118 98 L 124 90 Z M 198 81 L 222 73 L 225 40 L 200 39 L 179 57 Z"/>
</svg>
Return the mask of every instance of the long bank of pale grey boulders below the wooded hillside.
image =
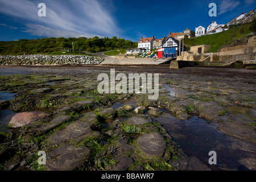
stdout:
<svg viewBox="0 0 256 182">
<path fill-rule="evenodd" d="M 0 65 L 100 64 L 103 60 L 102 57 L 82 55 L 0 56 Z"/>
</svg>

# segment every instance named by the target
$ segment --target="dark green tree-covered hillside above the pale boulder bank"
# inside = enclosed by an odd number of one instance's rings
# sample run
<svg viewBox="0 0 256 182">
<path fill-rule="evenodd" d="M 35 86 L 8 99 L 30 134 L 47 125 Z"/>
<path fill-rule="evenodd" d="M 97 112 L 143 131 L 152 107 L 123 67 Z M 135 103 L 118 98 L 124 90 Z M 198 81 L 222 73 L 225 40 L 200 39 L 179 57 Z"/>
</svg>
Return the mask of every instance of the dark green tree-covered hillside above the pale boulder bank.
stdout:
<svg viewBox="0 0 256 182">
<path fill-rule="evenodd" d="M 72 42 L 74 43 L 72 46 Z M 74 52 L 101 52 L 119 48 L 138 47 L 138 43 L 130 40 L 113 38 L 45 38 L 20 39 L 18 41 L 0 42 L 0 55 L 56 54 L 72 50 Z M 69 52 L 70 53 L 70 52 Z"/>
</svg>

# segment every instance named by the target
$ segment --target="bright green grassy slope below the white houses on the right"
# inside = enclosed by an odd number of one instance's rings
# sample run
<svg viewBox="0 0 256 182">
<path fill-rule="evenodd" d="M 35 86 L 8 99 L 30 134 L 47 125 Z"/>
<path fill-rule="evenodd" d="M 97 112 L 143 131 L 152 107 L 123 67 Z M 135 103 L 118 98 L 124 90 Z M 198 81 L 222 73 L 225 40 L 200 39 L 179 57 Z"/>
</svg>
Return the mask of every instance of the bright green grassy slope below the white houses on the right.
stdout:
<svg viewBox="0 0 256 182">
<path fill-rule="evenodd" d="M 241 43 L 246 43 L 247 34 L 251 33 L 250 26 L 251 24 L 243 24 L 242 26 L 235 26 L 227 31 L 217 34 L 200 36 L 199 38 L 193 39 L 184 39 L 184 43 L 189 44 L 190 46 L 207 44 L 210 46 L 209 52 L 217 52 L 221 47 L 237 40 Z"/>
</svg>

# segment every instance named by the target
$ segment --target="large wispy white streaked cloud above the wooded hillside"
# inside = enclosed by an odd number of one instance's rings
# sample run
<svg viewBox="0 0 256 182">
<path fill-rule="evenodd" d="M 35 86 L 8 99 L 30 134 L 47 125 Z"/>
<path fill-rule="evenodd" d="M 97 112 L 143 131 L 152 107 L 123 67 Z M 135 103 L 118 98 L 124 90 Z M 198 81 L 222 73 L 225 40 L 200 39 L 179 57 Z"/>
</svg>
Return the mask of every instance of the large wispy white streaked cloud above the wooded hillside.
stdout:
<svg viewBox="0 0 256 182">
<path fill-rule="evenodd" d="M 38 4 L 32 0 L 1 0 L 0 13 L 24 22 L 32 35 L 77 37 L 79 35 L 118 36 L 108 6 L 92 0 L 44 0 L 46 17 L 38 16 Z M 36 26 L 37 25 L 37 26 Z M 42 28 L 42 30 L 40 29 Z M 45 32 L 43 32 L 45 30 Z M 75 35 L 75 36 L 74 36 Z"/>
</svg>

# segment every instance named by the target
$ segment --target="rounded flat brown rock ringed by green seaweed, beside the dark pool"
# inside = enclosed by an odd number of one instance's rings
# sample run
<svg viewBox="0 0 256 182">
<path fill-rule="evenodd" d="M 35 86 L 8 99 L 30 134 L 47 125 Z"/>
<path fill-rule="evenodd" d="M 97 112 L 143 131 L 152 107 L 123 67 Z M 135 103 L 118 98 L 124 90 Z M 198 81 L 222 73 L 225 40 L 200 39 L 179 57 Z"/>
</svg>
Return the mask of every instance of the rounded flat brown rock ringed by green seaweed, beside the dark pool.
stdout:
<svg viewBox="0 0 256 182">
<path fill-rule="evenodd" d="M 137 144 L 139 150 L 146 155 L 163 155 L 166 149 L 163 136 L 156 132 L 141 135 L 137 139 Z"/>
</svg>

